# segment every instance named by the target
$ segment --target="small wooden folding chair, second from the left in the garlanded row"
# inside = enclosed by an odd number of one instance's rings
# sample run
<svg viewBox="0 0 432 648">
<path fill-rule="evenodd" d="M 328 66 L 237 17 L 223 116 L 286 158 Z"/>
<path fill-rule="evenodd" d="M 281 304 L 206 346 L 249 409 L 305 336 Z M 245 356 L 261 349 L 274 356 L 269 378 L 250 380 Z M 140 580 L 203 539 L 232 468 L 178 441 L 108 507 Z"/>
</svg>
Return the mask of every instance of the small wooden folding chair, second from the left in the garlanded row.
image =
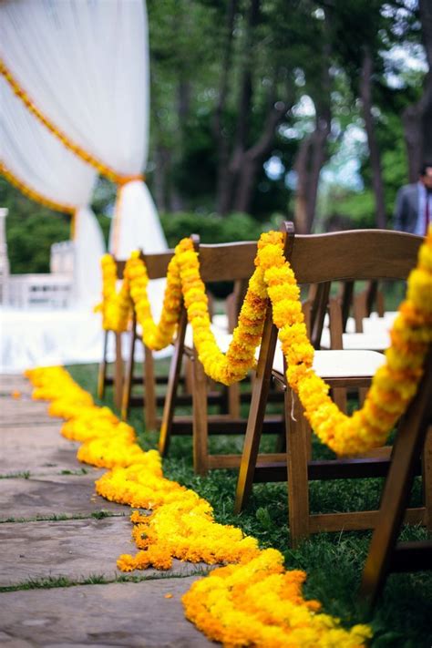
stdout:
<svg viewBox="0 0 432 648">
<path fill-rule="evenodd" d="M 171 250 L 152 254 L 141 252 L 140 258 L 146 264 L 149 280 L 163 279 L 167 276 L 168 265 L 173 254 L 174 252 Z M 143 345 L 144 351 L 141 376 L 134 376 L 137 343 Z M 146 429 L 156 429 L 158 427 L 157 407 L 163 405 L 164 402 L 164 396 L 159 396 L 157 393 L 157 385 L 166 385 L 167 381 L 168 377 L 166 375 L 157 376 L 155 374 L 153 352 L 142 341 L 142 335 L 139 334 L 137 315 L 134 310 L 129 336 L 129 355 L 122 390 L 121 418 L 123 420 L 128 419 L 131 406 L 142 406 Z M 132 394 L 134 385 L 142 386 L 143 395 L 135 396 Z"/>
</svg>

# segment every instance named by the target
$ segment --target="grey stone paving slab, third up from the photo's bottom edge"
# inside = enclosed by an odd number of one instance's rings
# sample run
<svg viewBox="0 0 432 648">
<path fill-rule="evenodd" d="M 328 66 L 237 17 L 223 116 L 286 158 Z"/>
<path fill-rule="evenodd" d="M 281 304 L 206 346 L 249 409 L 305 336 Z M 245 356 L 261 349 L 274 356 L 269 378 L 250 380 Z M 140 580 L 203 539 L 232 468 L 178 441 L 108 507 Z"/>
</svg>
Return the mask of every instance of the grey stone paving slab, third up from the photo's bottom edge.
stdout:
<svg viewBox="0 0 432 648">
<path fill-rule="evenodd" d="M 109 502 L 95 493 L 94 482 L 101 473 L 89 468 L 87 475 L 0 479 L 0 521 L 54 515 L 86 517 L 100 510 L 129 515 L 129 506 Z"/>
</svg>

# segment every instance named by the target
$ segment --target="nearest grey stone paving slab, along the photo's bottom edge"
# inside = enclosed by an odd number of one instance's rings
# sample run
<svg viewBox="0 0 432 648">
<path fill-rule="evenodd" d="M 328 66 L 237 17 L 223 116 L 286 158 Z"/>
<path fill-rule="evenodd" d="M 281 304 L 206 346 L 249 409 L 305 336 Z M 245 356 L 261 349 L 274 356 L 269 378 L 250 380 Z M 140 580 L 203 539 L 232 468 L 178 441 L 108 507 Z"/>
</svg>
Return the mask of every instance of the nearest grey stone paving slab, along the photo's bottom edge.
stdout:
<svg viewBox="0 0 432 648">
<path fill-rule="evenodd" d="M 180 597 L 195 580 L 188 577 L 3 592 L 0 626 L 10 641 L 33 646 L 216 645 L 184 617 Z M 164 598 L 165 594 L 172 594 L 172 598 Z"/>
</svg>

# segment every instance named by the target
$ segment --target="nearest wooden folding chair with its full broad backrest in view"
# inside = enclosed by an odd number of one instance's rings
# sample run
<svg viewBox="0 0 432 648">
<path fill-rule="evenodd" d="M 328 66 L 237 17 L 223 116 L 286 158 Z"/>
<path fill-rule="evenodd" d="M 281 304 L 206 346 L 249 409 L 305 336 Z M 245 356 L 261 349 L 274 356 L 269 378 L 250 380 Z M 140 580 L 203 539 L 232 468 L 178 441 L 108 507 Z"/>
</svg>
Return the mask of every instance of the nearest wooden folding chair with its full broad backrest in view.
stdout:
<svg viewBox="0 0 432 648">
<path fill-rule="evenodd" d="M 285 253 L 300 284 L 406 278 L 417 263 L 417 252 L 422 242 L 421 237 L 396 231 L 342 231 L 295 237 L 292 234 L 289 239 L 291 244 L 285 246 Z M 377 511 L 311 515 L 309 480 L 384 477 L 389 466 L 390 448 L 377 448 L 363 458 L 312 460 L 310 427 L 303 417 L 298 397 L 293 397 L 285 383 L 282 352 L 275 355 L 276 340 L 277 330 L 269 317 L 264 327 L 257 367 L 260 380 L 255 382 L 252 392 L 237 485 L 236 511 L 239 512 L 248 499 L 253 480 L 287 480 L 290 534 L 294 545 L 309 533 L 317 531 L 373 528 Z M 382 354 L 372 351 L 317 351 L 314 368 L 337 395 L 341 387 L 358 389 L 368 386 L 376 368 L 383 361 Z M 287 454 L 283 463 L 257 466 L 262 417 L 272 374 L 286 388 Z M 408 519 L 415 523 L 424 522 L 425 516 L 425 507 L 408 511 Z"/>
</svg>

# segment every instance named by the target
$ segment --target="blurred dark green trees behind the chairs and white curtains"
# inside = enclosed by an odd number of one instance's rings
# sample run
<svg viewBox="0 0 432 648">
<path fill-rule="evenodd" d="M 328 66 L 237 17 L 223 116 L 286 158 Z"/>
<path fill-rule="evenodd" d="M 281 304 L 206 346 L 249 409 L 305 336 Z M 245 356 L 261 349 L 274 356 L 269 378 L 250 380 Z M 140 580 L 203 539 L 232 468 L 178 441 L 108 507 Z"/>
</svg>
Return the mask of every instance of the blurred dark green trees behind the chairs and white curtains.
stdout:
<svg viewBox="0 0 432 648">
<path fill-rule="evenodd" d="M 170 244 L 391 227 L 432 159 L 430 0 L 148 0 L 149 188 Z M 114 190 L 94 208 L 108 231 Z M 67 217 L 0 182 L 12 270 L 47 269 Z M 239 216 L 242 214 L 242 216 Z M 37 232 L 37 249 L 35 240 Z"/>
</svg>

